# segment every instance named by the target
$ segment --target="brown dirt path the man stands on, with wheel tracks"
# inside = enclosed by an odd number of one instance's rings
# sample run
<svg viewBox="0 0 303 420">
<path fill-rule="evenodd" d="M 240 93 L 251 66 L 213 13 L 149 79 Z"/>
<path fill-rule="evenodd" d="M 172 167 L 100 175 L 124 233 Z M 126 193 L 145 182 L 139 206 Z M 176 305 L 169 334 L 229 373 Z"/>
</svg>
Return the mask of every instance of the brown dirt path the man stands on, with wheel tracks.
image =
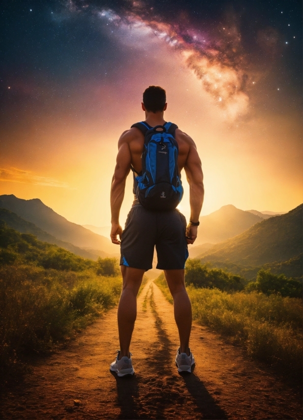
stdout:
<svg viewBox="0 0 303 420">
<path fill-rule="evenodd" d="M 302 418 L 292 389 L 199 325 L 191 338 L 196 368 L 179 375 L 177 337 L 172 306 L 148 282 L 138 298 L 133 377 L 109 371 L 118 348 L 114 308 L 68 349 L 39 361 L 25 383 L 3 396 L 1 418 Z"/>
</svg>

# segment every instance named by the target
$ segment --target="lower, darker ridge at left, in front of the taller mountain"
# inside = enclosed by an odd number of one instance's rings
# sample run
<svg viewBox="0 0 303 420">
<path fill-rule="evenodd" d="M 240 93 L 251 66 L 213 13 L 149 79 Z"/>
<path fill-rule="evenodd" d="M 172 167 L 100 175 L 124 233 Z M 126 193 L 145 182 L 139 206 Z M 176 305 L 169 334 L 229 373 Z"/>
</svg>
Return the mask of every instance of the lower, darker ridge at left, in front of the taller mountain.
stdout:
<svg viewBox="0 0 303 420">
<path fill-rule="evenodd" d="M 20 233 L 32 233 L 33 235 L 37 236 L 40 241 L 48 242 L 49 244 L 55 244 L 58 247 L 64 248 L 67 251 L 70 251 L 83 258 L 96 260 L 98 256 L 105 257 L 107 255 L 106 253 L 103 253 L 104 255 L 100 255 L 95 250 L 89 252 L 82 248 L 76 247 L 73 244 L 69 244 L 68 242 L 60 241 L 60 239 L 57 239 L 47 232 L 44 232 L 34 223 L 21 219 L 21 217 L 17 216 L 13 212 L 10 212 L 6 208 L 0 208 L 0 221 L 1 220 L 4 221 L 8 227 L 13 228 Z"/>
</svg>

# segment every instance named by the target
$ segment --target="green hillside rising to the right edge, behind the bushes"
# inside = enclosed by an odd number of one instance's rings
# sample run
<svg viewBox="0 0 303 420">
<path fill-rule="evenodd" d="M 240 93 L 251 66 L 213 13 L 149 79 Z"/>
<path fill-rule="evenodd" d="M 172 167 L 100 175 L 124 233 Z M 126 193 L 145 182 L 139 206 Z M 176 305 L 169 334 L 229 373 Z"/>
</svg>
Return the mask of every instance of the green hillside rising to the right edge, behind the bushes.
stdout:
<svg viewBox="0 0 303 420">
<path fill-rule="evenodd" d="M 302 253 L 303 204 L 281 216 L 271 217 L 246 232 L 215 245 L 201 255 L 203 261 L 251 266 L 286 262 Z"/>
</svg>

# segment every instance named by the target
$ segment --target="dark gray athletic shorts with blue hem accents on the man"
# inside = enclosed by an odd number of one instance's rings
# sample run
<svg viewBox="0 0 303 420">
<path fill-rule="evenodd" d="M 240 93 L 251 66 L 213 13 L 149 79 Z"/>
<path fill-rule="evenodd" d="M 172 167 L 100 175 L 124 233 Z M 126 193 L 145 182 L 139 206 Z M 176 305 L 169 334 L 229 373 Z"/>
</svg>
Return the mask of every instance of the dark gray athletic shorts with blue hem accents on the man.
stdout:
<svg viewBox="0 0 303 420">
<path fill-rule="evenodd" d="M 149 270 L 156 246 L 157 268 L 183 269 L 188 258 L 185 236 L 186 219 L 177 209 L 155 212 L 133 205 L 122 233 L 120 265 Z"/>
</svg>

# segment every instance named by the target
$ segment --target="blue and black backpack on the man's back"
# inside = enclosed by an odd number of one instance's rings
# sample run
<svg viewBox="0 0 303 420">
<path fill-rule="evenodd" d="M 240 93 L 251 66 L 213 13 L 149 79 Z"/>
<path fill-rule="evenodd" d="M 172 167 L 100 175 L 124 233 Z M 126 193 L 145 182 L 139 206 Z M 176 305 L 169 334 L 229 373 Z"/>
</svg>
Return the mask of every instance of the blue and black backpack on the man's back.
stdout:
<svg viewBox="0 0 303 420">
<path fill-rule="evenodd" d="M 149 210 L 171 210 L 183 197 L 183 187 L 178 170 L 178 143 L 175 140 L 175 124 L 150 127 L 136 123 L 144 134 L 141 156 L 142 172 L 135 176 L 134 190 L 139 203 Z M 157 130 L 161 129 L 161 130 Z M 133 172 L 135 172 L 132 167 Z"/>
</svg>

